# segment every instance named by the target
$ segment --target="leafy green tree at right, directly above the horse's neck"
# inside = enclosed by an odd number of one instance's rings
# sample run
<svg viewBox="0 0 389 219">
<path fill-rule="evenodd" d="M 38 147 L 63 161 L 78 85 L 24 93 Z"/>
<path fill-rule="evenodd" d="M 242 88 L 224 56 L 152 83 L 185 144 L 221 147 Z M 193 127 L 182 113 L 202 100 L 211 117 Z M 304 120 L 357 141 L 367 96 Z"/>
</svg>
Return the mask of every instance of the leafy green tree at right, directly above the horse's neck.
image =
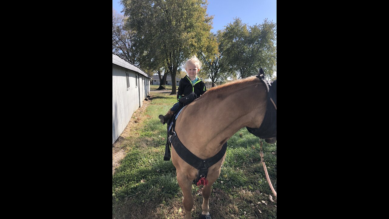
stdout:
<svg viewBox="0 0 389 219">
<path fill-rule="evenodd" d="M 234 20 L 226 26 L 222 40 L 229 68 L 239 78 L 256 75 L 259 68 L 271 77 L 277 71 L 276 24 L 265 19 L 261 25 L 247 28 L 240 18 Z"/>
</svg>

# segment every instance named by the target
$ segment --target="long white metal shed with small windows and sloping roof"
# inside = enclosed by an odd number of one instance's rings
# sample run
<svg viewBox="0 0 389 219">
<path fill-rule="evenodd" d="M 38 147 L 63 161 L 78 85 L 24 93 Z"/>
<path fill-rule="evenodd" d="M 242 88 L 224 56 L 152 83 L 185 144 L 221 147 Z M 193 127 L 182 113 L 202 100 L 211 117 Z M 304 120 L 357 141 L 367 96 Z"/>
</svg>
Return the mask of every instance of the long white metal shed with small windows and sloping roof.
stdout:
<svg viewBox="0 0 389 219">
<path fill-rule="evenodd" d="M 150 93 L 150 79 L 137 66 L 112 54 L 112 144 L 142 107 Z"/>
</svg>

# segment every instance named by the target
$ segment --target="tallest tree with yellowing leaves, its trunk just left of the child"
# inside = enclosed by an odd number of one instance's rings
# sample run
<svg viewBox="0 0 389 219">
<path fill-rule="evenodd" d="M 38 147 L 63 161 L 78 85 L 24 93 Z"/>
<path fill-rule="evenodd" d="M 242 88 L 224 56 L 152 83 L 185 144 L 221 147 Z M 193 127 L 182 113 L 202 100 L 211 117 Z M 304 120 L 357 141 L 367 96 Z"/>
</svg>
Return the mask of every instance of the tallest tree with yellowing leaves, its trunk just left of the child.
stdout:
<svg viewBox="0 0 389 219">
<path fill-rule="evenodd" d="M 175 81 L 177 69 L 207 44 L 213 16 L 207 16 L 207 0 L 121 0 L 128 26 L 142 43 L 140 54 L 149 62 L 164 57 Z M 166 73 L 165 73 L 166 74 Z M 171 95 L 177 94 L 172 83 Z"/>
</svg>

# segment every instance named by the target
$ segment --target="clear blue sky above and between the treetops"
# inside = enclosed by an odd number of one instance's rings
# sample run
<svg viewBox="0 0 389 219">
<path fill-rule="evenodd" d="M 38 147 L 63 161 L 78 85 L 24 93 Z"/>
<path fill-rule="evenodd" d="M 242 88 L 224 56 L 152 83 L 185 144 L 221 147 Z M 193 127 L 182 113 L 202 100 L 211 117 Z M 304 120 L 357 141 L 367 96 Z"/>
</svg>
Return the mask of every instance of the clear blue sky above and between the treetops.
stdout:
<svg viewBox="0 0 389 219">
<path fill-rule="evenodd" d="M 120 13 L 123 6 L 112 0 L 112 7 Z M 224 29 L 239 17 L 248 26 L 261 24 L 265 18 L 277 23 L 277 0 L 208 0 L 207 13 L 214 15 L 212 32 Z M 123 13 L 121 13 L 123 14 Z"/>
</svg>

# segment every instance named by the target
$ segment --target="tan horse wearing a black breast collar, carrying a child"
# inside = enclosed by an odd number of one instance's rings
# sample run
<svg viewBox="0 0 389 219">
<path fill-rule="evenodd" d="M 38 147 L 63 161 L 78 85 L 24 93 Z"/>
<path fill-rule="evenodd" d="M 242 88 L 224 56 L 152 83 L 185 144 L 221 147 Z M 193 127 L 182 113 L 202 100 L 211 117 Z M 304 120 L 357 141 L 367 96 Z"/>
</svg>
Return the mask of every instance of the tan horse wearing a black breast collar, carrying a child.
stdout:
<svg viewBox="0 0 389 219">
<path fill-rule="evenodd" d="M 211 88 L 181 111 L 175 131 L 180 141 L 194 155 L 208 159 L 219 152 L 226 141 L 242 127 L 259 128 L 266 112 L 266 85 L 255 76 Z M 276 138 L 266 139 L 274 143 Z M 208 168 L 209 185 L 203 188 L 202 214 L 209 214 L 212 184 L 220 175 L 223 158 Z M 193 208 L 192 181 L 197 170 L 183 161 L 172 145 L 172 162 L 184 194 L 185 218 Z"/>
</svg>

